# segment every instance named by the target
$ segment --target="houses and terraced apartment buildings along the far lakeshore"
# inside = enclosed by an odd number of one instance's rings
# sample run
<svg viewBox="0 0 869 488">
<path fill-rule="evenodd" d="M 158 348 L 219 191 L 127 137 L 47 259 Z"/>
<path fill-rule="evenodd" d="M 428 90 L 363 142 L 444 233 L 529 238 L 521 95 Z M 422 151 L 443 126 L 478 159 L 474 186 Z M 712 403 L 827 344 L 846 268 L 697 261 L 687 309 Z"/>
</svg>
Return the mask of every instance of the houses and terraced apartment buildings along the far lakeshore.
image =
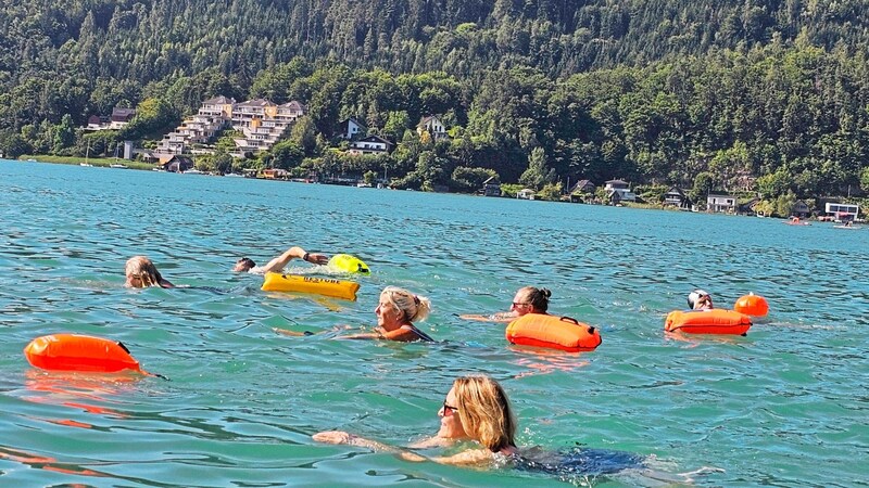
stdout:
<svg viewBox="0 0 869 488">
<path fill-rule="evenodd" d="M 234 158 L 250 159 L 255 154 L 267 152 L 275 144 L 286 138 L 293 125 L 305 115 L 306 107 L 298 101 L 278 105 L 267 100 L 257 99 L 245 102 L 236 102 L 235 99 L 215 97 L 202 103 L 197 114 L 186 118 L 174 131 L 165 134 L 153 149 L 135 147 L 133 141 L 124 141 L 124 159 L 138 159 L 152 164 L 153 170 L 194 175 L 221 175 L 231 177 L 260 178 L 269 180 L 287 180 L 305 183 L 342 184 L 360 188 L 392 188 L 387 170 L 380 176 L 375 171 L 363 175 L 318 175 L 307 171 L 304 175 L 297 171 L 279 168 L 247 168 L 234 171 L 237 165 L 227 165 L 227 171 L 207 170 L 199 165 L 197 157 L 213 157 L 216 153 L 215 141 L 227 130 L 232 131 L 234 146 L 225 153 Z M 111 116 L 91 116 L 84 131 L 118 130 L 123 129 L 135 117 L 133 108 L 114 108 Z M 342 141 L 340 146 L 330 147 L 333 153 L 345 156 L 380 156 L 390 154 L 395 144 L 379 136 L 368 134 L 363 123 L 354 117 L 340 123 L 338 130 Z M 441 141 L 449 140 L 446 127 L 437 115 L 421 117 L 416 133 L 420 140 Z M 119 146 L 118 146 L 119 149 Z M 117 158 L 117 150 L 115 158 Z M 91 166 L 87 162 L 81 166 Z M 126 168 L 124 164 L 115 162 L 110 165 L 115 168 Z M 238 165 L 241 166 L 241 165 Z M 205 169 L 205 170 L 203 170 Z M 491 171 L 491 170 L 490 170 Z M 706 192 L 705 195 L 691 195 L 691 192 L 677 185 L 658 187 L 656 192 L 644 193 L 642 196 L 631 191 L 629 182 L 614 179 L 597 184 L 593 181 L 581 179 L 572 185 L 565 185 L 567 191 L 562 191 L 561 184 L 556 191 L 544 189 L 537 191 L 522 188 L 520 184 L 501 183 L 498 175 L 491 171 L 478 184 L 475 193 L 481 196 L 516 197 L 522 200 L 546 200 L 570 203 L 587 203 L 595 205 L 614 206 L 642 206 L 653 208 L 671 208 L 687 211 L 708 211 L 733 215 L 755 215 L 768 217 L 773 214 L 789 215 L 789 223 L 805 224 L 805 219 L 817 218 L 821 221 L 834 222 L 862 222 L 860 208 L 856 204 L 841 202 L 818 202 L 817 207 L 802 200 L 785 202 L 789 208 L 772 208 L 773 205 L 761 202 L 752 195 L 750 188 L 741 194 Z M 552 185 L 550 185 L 552 187 Z M 750 187 L 750 185 L 746 185 Z M 666 189 L 666 190 L 665 190 Z M 433 191 L 449 191 L 445 188 L 432 188 Z M 696 193 L 696 192 L 694 192 Z M 692 197 L 693 196 L 693 197 Z M 766 204 L 766 205 L 765 205 Z M 813 202 L 813 204 L 816 204 Z M 780 204 L 781 205 L 781 204 Z"/>
</svg>

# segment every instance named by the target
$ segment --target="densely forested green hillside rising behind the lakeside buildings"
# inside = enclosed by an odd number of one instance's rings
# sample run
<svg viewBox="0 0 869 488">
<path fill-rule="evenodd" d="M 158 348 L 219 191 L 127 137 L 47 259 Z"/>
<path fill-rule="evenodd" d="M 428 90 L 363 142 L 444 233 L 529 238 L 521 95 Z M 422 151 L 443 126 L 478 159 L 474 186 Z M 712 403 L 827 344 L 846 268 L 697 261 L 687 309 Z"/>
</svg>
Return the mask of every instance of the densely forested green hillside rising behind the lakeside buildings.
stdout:
<svg viewBox="0 0 869 488">
<path fill-rule="evenodd" d="M 147 143 L 224 94 L 311 110 L 290 151 L 250 164 L 391 166 L 403 184 L 455 189 L 476 184 L 467 168 L 538 188 L 620 177 L 767 198 L 869 187 L 865 1 L 0 4 L 7 155 L 78 154 L 75 128 L 114 106 L 139 110 L 114 138 Z M 429 114 L 451 141 L 405 132 Z M 401 143 L 390 160 L 326 151 L 347 116 Z"/>
</svg>

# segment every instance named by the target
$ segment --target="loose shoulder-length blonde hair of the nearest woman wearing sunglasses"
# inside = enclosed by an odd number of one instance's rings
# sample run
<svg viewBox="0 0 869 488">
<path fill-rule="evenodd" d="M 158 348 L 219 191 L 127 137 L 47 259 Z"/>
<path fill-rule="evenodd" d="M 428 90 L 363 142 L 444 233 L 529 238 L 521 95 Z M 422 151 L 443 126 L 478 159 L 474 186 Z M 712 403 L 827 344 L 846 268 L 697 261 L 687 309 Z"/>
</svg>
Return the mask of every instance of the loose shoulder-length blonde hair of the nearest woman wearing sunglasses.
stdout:
<svg viewBox="0 0 869 488">
<path fill-rule="evenodd" d="M 516 418 L 504 388 L 489 376 L 463 376 L 453 383 L 455 407 L 465 432 L 492 452 L 515 447 Z"/>
</svg>

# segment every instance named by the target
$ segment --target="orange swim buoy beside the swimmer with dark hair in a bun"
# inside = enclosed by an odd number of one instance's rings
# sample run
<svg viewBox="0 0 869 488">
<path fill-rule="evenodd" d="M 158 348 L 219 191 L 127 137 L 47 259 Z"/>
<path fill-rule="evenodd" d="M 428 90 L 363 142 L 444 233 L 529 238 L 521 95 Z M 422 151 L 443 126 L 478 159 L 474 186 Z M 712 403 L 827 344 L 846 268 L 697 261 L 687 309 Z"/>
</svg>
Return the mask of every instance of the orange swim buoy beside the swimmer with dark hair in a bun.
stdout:
<svg viewBox="0 0 869 488">
<path fill-rule="evenodd" d="M 521 346 L 546 347 L 568 352 L 594 350 L 601 334 L 593 326 L 569 317 L 528 313 L 507 325 L 507 341 Z"/>
</svg>

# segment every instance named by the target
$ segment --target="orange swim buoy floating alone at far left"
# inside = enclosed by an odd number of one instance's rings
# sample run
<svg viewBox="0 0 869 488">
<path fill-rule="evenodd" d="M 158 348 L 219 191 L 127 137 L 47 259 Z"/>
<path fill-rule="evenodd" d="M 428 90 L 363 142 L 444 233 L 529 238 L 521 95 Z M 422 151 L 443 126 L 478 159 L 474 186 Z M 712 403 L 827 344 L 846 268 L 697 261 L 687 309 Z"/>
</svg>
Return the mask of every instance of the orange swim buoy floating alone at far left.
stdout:
<svg viewBox="0 0 869 488">
<path fill-rule="evenodd" d="M 114 373 L 139 368 L 139 361 L 119 342 L 78 334 L 51 334 L 30 341 L 24 348 L 27 361 L 52 371 Z"/>
</svg>

